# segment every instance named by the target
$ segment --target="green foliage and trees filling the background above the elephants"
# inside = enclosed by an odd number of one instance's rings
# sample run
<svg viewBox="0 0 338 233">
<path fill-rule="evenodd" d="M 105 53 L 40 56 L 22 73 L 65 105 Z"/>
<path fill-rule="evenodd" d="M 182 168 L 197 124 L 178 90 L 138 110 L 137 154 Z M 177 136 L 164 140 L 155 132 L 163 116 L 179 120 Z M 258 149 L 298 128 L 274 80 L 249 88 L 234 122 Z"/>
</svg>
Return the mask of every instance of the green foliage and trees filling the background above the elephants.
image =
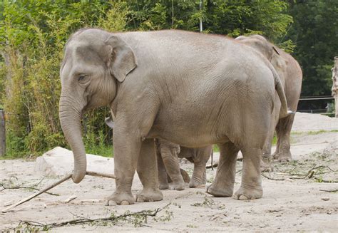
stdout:
<svg viewBox="0 0 338 233">
<path fill-rule="evenodd" d="M 74 31 L 183 29 L 228 36 L 260 33 L 294 52 L 304 95 L 328 95 L 338 48 L 335 0 L 0 1 L 0 108 L 7 115 L 7 155 L 41 155 L 66 147 L 58 121 L 63 47 Z M 108 108 L 83 118 L 87 152 L 111 155 Z"/>
</svg>

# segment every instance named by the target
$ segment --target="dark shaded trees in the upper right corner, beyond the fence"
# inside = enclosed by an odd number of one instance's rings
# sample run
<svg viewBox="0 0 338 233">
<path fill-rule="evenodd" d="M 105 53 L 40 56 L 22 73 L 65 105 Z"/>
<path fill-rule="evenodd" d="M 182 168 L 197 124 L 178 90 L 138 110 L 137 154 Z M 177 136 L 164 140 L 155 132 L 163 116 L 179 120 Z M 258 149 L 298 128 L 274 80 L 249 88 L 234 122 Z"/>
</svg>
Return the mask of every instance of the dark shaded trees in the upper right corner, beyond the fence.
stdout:
<svg viewBox="0 0 338 233">
<path fill-rule="evenodd" d="M 331 95 L 331 68 L 338 55 L 338 1 L 290 1 L 295 23 L 286 38 L 294 41 L 294 56 L 302 66 L 302 95 Z M 324 108 L 324 102 L 300 103 Z"/>
</svg>

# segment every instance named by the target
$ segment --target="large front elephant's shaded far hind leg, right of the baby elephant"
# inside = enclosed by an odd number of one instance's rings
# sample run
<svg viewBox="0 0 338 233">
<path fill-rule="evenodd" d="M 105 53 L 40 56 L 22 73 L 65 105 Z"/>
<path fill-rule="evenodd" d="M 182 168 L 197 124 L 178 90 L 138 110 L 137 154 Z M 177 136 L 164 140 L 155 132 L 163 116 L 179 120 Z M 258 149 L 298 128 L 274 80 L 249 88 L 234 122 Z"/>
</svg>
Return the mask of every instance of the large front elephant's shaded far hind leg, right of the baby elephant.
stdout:
<svg viewBox="0 0 338 233">
<path fill-rule="evenodd" d="M 215 180 L 208 187 L 207 192 L 215 197 L 231 197 L 235 184 L 236 159 L 239 149 L 231 142 L 220 147 Z"/>
</svg>

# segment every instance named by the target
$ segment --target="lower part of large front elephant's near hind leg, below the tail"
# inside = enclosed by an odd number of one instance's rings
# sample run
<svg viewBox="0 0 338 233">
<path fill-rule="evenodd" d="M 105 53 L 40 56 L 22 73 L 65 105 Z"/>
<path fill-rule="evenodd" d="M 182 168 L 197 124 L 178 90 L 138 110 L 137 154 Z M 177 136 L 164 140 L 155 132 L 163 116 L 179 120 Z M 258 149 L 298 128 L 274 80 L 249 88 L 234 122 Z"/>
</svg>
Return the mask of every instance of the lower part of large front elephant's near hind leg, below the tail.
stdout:
<svg viewBox="0 0 338 233">
<path fill-rule="evenodd" d="M 235 192 L 235 198 L 250 200 L 262 197 L 262 180 L 260 177 L 260 160 L 262 150 L 257 147 L 245 147 L 242 150 L 243 168 L 240 189 Z"/>
</svg>

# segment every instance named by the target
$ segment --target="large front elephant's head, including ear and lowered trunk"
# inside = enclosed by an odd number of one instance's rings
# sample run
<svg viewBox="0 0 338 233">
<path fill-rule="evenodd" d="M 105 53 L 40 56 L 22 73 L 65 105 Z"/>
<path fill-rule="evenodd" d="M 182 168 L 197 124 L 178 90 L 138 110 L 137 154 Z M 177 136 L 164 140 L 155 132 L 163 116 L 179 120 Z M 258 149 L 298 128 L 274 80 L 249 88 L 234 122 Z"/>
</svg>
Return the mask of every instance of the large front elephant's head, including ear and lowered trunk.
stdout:
<svg viewBox="0 0 338 233">
<path fill-rule="evenodd" d="M 86 175 L 86 152 L 81 138 L 81 117 L 86 110 L 109 105 L 136 67 L 135 56 L 119 36 L 99 29 L 82 29 L 66 43 L 60 69 L 61 128 L 74 155 L 73 182 Z"/>
</svg>

